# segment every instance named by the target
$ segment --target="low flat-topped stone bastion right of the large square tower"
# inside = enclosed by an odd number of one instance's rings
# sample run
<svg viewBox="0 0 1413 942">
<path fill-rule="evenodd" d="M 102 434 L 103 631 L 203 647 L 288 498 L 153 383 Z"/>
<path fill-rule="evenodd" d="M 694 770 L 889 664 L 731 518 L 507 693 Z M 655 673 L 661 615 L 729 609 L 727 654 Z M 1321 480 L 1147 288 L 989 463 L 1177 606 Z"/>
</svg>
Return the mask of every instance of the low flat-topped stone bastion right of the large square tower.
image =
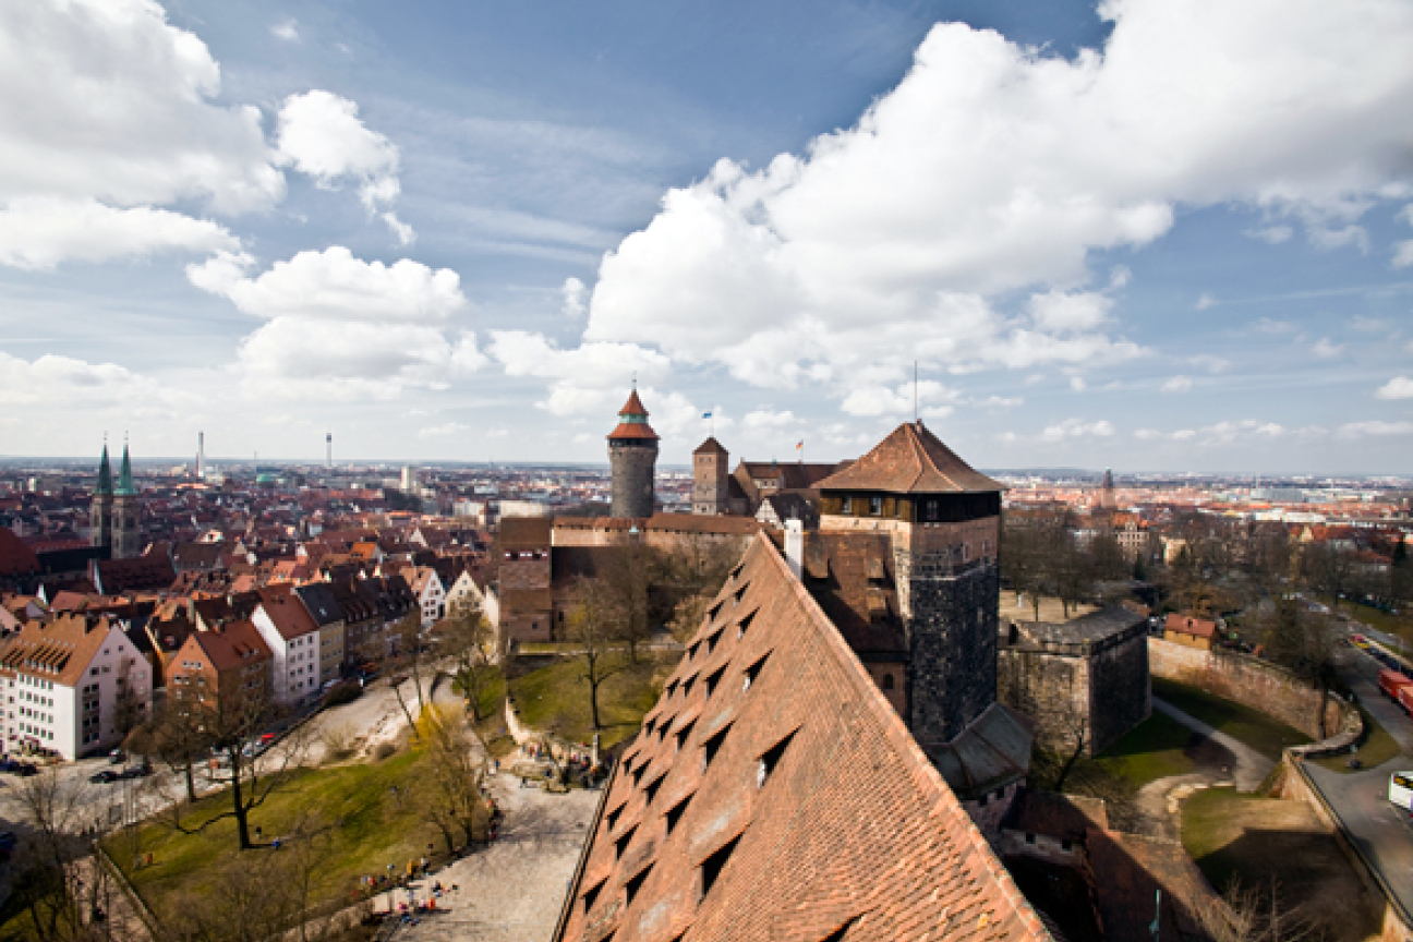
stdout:
<svg viewBox="0 0 1413 942">
<path fill-rule="evenodd" d="M 1064 623 L 1016 621 L 1000 637 L 999 699 L 1057 751 L 1104 751 L 1149 717 L 1147 619 L 1118 606 Z"/>
</svg>

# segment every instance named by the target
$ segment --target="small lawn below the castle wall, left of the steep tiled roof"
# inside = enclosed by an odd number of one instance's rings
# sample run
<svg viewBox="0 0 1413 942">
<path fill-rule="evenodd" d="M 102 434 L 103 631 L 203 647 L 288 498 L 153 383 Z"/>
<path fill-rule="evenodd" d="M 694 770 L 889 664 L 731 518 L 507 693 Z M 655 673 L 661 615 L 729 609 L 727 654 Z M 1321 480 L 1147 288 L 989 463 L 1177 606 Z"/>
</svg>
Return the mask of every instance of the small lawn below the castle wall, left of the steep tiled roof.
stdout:
<svg viewBox="0 0 1413 942">
<path fill-rule="evenodd" d="M 643 723 L 643 715 L 653 709 L 661 692 L 670 661 L 651 654 L 639 655 L 637 664 L 627 664 L 626 654 L 612 654 L 613 676 L 599 688 L 599 730 L 603 747 L 633 736 Z M 520 720 L 536 729 L 550 730 L 569 741 L 588 743 L 593 737 L 589 716 L 589 685 L 582 679 L 582 658 L 564 658 L 510 681 L 510 695 L 520 708 Z"/>
</svg>

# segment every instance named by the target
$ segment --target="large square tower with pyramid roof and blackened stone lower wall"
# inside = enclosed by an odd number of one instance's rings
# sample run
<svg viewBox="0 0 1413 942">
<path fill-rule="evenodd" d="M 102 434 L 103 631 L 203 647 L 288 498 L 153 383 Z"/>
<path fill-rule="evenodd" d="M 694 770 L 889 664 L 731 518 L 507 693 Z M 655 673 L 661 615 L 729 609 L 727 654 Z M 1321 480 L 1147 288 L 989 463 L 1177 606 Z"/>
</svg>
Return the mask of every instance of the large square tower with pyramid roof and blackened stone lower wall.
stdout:
<svg viewBox="0 0 1413 942">
<path fill-rule="evenodd" d="M 909 644 L 909 727 L 928 749 L 996 702 L 1000 484 L 921 422 L 818 484 L 821 530 L 886 532 Z"/>
</svg>

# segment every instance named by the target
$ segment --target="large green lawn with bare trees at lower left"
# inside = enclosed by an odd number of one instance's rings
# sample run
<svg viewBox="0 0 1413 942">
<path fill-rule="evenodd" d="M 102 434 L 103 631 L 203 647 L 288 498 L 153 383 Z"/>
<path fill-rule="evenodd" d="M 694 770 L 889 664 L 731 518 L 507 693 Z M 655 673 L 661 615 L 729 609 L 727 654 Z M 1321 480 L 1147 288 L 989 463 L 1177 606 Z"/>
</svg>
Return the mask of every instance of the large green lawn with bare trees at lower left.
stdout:
<svg viewBox="0 0 1413 942">
<path fill-rule="evenodd" d="M 319 867 L 314 898 L 346 900 L 363 874 L 386 873 L 387 864 L 406 871 L 407 861 L 420 859 L 428 843 L 445 852 L 441 833 L 424 823 L 410 792 L 425 780 L 430 763 L 425 750 L 403 750 L 379 763 L 305 770 L 273 794 L 250 815 L 252 830 L 259 825 L 264 842 L 294 830 L 302 815 L 317 813 L 331 828 L 331 839 Z M 396 787 L 396 791 L 394 791 Z M 222 792 L 196 802 L 184 823 L 194 826 L 230 806 Z M 236 860 L 259 866 L 270 847 L 236 850 L 236 823 L 226 819 L 196 835 L 174 830 L 153 821 L 140 830 L 140 853 L 153 854 L 150 867 L 134 867 L 131 839 L 110 837 L 109 853 L 123 869 L 143 900 L 161 919 L 182 901 L 199 897 L 222 866 Z"/>
</svg>

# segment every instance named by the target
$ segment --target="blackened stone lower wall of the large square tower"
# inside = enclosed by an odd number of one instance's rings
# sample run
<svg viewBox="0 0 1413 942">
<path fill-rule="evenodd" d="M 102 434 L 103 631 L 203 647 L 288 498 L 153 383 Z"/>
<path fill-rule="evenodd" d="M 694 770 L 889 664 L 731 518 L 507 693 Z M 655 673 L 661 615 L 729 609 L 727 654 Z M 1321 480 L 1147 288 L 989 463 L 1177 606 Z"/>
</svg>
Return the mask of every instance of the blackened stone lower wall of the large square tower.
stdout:
<svg viewBox="0 0 1413 942">
<path fill-rule="evenodd" d="M 995 565 L 954 566 L 942 554 L 911 559 L 909 725 L 918 743 L 955 739 L 996 702 Z"/>
</svg>

